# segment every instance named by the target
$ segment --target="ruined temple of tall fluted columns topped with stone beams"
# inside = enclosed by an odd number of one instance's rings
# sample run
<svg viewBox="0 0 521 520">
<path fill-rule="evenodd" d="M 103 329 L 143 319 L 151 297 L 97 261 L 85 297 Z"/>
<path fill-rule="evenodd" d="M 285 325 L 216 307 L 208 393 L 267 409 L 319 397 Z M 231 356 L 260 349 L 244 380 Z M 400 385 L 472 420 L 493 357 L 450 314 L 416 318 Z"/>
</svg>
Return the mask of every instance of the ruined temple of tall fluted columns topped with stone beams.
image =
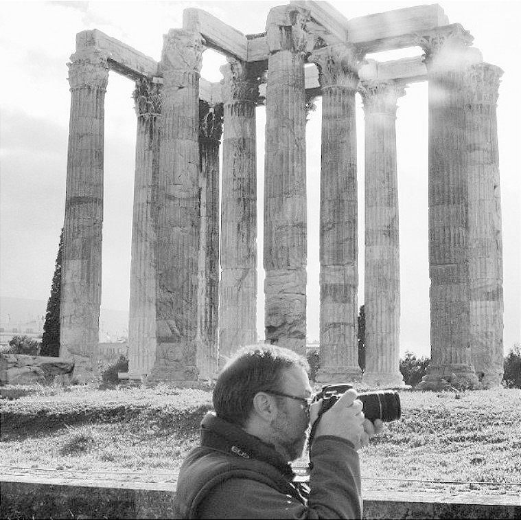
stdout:
<svg viewBox="0 0 521 520">
<path fill-rule="evenodd" d="M 496 102 L 501 69 L 439 5 L 347 19 L 326 2 L 272 8 L 242 34 L 185 9 L 157 63 L 98 30 L 69 63 L 71 117 L 60 357 L 95 372 L 101 297 L 104 95 L 135 82 L 137 144 L 128 377 L 197 385 L 257 341 L 257 144 L 266 106 L 266 341 L 305 352 L 305 124 L 322 97 L 319 381 L 404 385 L 399 370 L 397 100 L 428 82 L 431 363 L 421 386 L 502 378 L 502 238 Z M 421 47 L 378 63 L 371 53 Z M 227 56 L 200 77 L 202 52 Z M 310 65 L 308 65 L 310 64 Z M 307 66 L 306 66 L 307 65 Z M 365 116 L 366 367 L 357 361 L 355 99 Z M 219 168 L 222 144 L 222 170 Z"/>
</svg>

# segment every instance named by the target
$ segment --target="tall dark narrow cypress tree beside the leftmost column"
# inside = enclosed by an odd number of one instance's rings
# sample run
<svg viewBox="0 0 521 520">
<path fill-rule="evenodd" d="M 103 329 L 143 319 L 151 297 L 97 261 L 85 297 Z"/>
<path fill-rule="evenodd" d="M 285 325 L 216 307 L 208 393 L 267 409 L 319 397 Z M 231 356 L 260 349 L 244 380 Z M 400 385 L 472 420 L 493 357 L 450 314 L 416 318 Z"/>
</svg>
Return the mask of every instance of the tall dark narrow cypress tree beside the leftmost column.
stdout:
<svg viewBox="0 0 521 520">
<path fill-rule="evenodd" d="M 43 324 L 42 348 L 40 355 L 58 357 L 60 355 L 60 293 L 62 289 L 63 228 L 60 233 L 58 255 L 52 277 L 51 295 L 47 301 L 45 323 Z"/>
</svg>

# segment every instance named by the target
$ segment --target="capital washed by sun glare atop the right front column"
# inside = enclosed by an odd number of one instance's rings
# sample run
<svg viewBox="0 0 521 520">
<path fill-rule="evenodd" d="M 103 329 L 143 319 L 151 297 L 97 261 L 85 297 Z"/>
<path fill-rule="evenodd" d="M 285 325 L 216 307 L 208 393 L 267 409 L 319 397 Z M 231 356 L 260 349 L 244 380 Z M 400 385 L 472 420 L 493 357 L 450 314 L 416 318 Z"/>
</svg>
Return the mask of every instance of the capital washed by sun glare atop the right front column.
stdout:
<svg viewBox="0 0 521 520">
<path fill-rule="evenodd" d="M 470 47 L 474 36 L 459 23 L 437 27 L 426 34 L 417 35 L 415 39 L 417 45 L 424 49 L 424 62 L 428 68 L 452 69 L 475 61 L 475 54 Z"/>
</svg>

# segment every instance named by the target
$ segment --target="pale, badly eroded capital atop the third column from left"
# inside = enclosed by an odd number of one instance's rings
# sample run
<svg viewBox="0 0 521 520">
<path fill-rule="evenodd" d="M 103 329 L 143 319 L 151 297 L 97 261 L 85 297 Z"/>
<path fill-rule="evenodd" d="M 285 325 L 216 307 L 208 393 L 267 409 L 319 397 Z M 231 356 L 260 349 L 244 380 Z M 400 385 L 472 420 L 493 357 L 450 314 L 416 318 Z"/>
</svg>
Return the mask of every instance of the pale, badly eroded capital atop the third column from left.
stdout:
<svg viewBox="0 0 521 520">
<path fill-rule="evenodd" d="M 199 73 L 202 61 L 202 38 L 198 32 L 170 29 L 163 35 L 161 67 Z"/>
</svg>

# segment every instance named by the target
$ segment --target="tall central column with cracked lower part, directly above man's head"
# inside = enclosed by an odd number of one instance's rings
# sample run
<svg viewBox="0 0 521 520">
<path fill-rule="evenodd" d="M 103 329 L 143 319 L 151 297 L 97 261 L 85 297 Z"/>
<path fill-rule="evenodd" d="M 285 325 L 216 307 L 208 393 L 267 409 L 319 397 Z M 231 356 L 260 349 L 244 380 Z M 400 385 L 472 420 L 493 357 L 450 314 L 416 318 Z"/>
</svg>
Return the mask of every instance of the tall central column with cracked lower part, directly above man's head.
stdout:
<svg viewBox="0 0 521 520">
<path fill-rule="evenodd" d="M 305 354 L 305 16 L 281 6 L 268 15 L 264 293 L 266 340 Z"/>
</svg>

